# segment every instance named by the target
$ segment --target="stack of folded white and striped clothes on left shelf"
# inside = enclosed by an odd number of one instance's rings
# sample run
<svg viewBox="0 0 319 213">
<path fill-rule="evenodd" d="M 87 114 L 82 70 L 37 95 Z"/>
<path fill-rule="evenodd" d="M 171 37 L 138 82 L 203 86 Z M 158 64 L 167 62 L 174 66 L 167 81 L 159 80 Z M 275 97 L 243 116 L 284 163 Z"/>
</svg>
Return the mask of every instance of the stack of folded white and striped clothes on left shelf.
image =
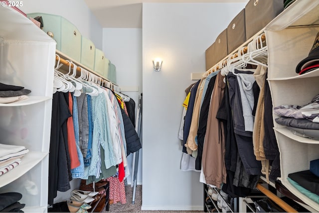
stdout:
<svg viewBox="0 0 319 213">
<path fill-rule="evenodd" d="M 0 176 L 17 167 L 28 152 L 24 146 L 0 144 Z"/>
</svg>

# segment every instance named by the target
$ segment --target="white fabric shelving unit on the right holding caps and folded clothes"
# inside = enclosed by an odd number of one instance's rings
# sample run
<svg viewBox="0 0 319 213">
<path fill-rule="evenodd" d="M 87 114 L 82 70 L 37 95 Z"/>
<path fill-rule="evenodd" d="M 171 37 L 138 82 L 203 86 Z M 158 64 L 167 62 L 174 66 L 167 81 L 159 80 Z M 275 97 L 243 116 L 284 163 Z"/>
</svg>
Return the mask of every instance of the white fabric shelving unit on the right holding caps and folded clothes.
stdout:
<svg viewBox="0 0 319 213">
<path fill-rule="evenodd" d="M 269 51 L 268 81 L 273 106 L 305 105 L 319 93 L 319 70 L 303 75 L 296 73 L 297 64 L 306 58 L 319 31 L 319 1 L 296 0 L 264 29 Z M 273 114 L 274 119 L 279 116 Z M 307 205 L 319 211 L 319 204 L 294 188 L 289 174 L 309 170 L 310 161 L 319 159 L 319 141 L 294 135 L 274 120 L 280 151 L 283 185 Z"/>
</svg>

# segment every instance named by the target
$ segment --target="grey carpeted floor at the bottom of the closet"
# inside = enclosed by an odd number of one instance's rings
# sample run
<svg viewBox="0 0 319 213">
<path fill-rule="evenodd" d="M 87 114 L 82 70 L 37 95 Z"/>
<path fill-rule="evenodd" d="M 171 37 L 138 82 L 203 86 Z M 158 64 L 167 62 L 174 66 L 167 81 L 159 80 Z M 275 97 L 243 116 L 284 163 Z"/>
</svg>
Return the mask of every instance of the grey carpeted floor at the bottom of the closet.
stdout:
<svg viewBox="0 0 319 213">
<path fill-rule="evenodd" d="M 201 211 L 149 211 L 149 210 L 141 210 L 142 206 L 142 185 L 138 185 L 136 187 L 135 193 L 135 204 L 132 204 L 133 198 L 133 188 L 131 185 L 125 187 L 126 194 L 126 204 L 111 204 L 109 213 L 173 213 L 173 212 L 181 212 L 181 213 L 189 213 L 196 212 L 200 213 Z"/>
</svg>

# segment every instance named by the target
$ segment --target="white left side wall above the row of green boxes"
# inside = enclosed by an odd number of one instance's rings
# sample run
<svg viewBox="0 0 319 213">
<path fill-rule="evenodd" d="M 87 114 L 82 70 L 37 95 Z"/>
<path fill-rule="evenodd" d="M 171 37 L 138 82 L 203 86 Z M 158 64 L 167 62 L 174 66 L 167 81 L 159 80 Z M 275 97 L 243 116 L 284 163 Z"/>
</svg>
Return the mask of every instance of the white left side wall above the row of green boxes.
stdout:
<svg viewBox="0 0 319 213">
<path fill-rule="evenodd" d="M 73 23 L 81 34 L 102 49 L 102 27 L 84 0 L 26 0 L 20 9 L 25 13 L 44 12 L 61 15 Z"/>
</svg>

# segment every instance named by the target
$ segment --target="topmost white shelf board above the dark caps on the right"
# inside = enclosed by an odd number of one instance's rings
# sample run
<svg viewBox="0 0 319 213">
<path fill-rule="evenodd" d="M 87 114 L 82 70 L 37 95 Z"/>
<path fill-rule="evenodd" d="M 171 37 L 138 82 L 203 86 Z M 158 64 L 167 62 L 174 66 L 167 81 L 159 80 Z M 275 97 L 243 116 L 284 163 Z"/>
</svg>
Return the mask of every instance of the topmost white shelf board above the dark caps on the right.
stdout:
<svg viewBox="0 0 319 213">
<path fill-rule="evenodd" d="M 289 26 L 317 25 L 319 0 L 296 0 L 275 17 L 265 30 L 279 31 Z"/>
</svg>

